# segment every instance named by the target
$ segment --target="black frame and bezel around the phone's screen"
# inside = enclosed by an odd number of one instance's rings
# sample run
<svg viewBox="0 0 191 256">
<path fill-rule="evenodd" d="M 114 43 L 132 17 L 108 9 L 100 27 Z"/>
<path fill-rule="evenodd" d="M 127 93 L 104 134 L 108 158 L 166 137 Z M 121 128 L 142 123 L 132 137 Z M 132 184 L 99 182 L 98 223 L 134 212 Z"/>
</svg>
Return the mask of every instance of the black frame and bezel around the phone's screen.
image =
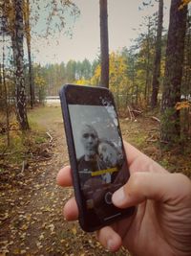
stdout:
<svg viewBox="0 0 191 256">
<path fill-rule="evenodd" d="M 78 93 L 78 90 L 80 90 L 80 93 Z M 67 145 L 68 145 L 68 151 L 69 151 L 69 158 L 71 162 L 71 167 L 73 170 L 73 180 L 74 180 L 74 196 L 76 198 L 77 207 L 79 209 L 79 222 L 83 230 L 92 232 L 96 229 L 99 229 L 100 227 L 110 224 L 113 220 L 108 220 L 104 222 L 96 222 L 92 225 L 90 223 L 87 223 L 86 221 L 86 207 L 85 207 L 85 201 L 83 200 L 83 194 L 79 186 L 79 175 L 77 172 L 77 158 L 75 154 L 74 149 L 74 135 L 72 131 L 72 122 L 70 118 L 69 113 L 69 106 L 68 105 L 101 105 L 102 99 L 104 97 L 107 98 L 107 100 L 110 100 L 112 105 L 114 105 L 115 109 L 117 110 L 113 94 L 110 92 L 109 89 L 104 87 L 93 87 L 93 86 L 83 86 L 83 85 L 75 85 L 75 84 L 65 84 L 62 89 L 60 90 L 60 100 L 61 100 L 61 106 L 62 106 L 62 113 L 63 113 L 63 119 L 64 119 L 64 127 L 65 132 L 67 134 Z M 118 117 L 117 117 L 118 120 Z M 118 123 L 119 124 L 119 123 Z M 118 126 L 118 134 L 122 138 L 120 128 Z M 122 144 L 122 150 L 124 151 L 124 146 Z M 126 159 L 126 156 L 125 156 Z M 127 159 L 126 159 L 127 162 Z M 128 163 L 127 163 L 128 167 Z M 131 216 L 135 211 L 135 207 L 128 208 L 125 215 L 122 214 L 121 216 L 117 217 L 115 220 L 122 219 L 127 216 Z"/>
</svg>

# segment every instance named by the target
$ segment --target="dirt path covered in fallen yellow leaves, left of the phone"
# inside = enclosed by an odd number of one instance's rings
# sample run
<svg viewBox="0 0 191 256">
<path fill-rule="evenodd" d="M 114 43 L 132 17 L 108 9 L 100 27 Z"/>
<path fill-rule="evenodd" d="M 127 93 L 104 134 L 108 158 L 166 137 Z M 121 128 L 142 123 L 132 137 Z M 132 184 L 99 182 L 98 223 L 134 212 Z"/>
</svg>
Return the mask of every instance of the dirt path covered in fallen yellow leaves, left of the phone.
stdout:
<svg viewBox="0 0 191 256">
<path fill-rule="evenodd" d="M 27 173 L 18 174 L 20 183 L 13 193 L 9 187 L 2 192 L 5 211 L 0 222 L 0 255 L 113 255 L 94 235 L 84 233 L 77 221 L 63 220 L 63 205 L 73 191 L 55 184 L 57 171 L 69 162 L 62 118 L 59 111 L 53 115 L 51 108 L 43 111 L 36 120 L 53 136 L 52 157 L 32 163 Z M 121 249 L 116 255 L 127 253 Z"/>
</svg>

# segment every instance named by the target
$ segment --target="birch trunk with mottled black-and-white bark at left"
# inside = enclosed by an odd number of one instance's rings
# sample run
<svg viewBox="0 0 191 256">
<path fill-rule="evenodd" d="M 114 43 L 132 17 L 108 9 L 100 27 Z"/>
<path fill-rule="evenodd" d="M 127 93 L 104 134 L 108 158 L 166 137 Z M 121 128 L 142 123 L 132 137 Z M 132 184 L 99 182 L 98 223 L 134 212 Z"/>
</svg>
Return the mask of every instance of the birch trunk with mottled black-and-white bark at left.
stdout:
<svg viewBox="0 0 191 256">
<path fill-rule="evenodd" d="M 23 1 L 14 0 L 14 29 L 12 32 L 12 51 L 15 67 L 15 96 L 16 96 L 16 114 L 20 128 L 22 130 L 29 129 L 27 118 L 27 102 L 25 95 L 24 81 L 24 51 L 23 51 Z"/>
</svg>

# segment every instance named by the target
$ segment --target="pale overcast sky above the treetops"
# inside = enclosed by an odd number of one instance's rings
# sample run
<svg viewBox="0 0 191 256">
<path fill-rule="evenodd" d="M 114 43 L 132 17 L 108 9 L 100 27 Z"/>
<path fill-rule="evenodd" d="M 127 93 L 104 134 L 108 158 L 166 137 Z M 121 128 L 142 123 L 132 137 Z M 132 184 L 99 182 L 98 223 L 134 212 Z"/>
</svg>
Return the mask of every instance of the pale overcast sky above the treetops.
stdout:
<svg viewBox="0 0 191 256">
<path fill-rule="evenodd" d="M 153 0 L 155 2 L 155 0 Z M 170 0 L 165 0 L 164 27 L 168 27 Z M 72 22 L 70 16 L 66 22 L 72 23 L 73 36 L 54 35 L 54 38 L 32 39 L 33 61 L 42 65 L 46 63 L 65 63 L 70 59 L 83 60 L 88 58 L 93 61 L 99 54 L 99 1 L 74 0 L 80 10 L 79 17 Z M 144 15 L 152 14 L 158 10 L 158 3 L 154 7 L 144 8 L 139 11 L 142 0 L 108 0 L 108 30 L 109 50 L 117 51 L 126 46 L 129 48 L 132 39 L 138 37 L 139 25 L 143 22 Z M 43 15 L 43 12 L 42 12 Z M 38 22 L 37 27 L 41 25 Z M 36 29 L 38 29 L 36 28 Z"/>
</svg>

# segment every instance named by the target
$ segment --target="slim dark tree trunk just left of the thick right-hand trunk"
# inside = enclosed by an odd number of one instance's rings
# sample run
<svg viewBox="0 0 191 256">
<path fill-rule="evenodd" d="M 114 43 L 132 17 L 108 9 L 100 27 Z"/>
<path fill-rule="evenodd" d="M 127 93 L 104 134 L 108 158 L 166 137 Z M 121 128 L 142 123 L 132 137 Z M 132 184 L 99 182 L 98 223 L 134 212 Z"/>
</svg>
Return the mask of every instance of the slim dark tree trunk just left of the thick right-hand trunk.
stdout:
<svg viewBox="0 0 191 256">
<path fill-rule="evenodd" d="M 155 56 L 154 72 L 153 72 L 153 84 L 152 84 L 153 91 L 152 91 L 152 97 L 151 97 L 152 107 L 156 107 L 158 105 L 162 19 L 163 19 L 163 0 L 159 0 L 158 32 L 157 32 L 156 56 Z"/>
</svg>

